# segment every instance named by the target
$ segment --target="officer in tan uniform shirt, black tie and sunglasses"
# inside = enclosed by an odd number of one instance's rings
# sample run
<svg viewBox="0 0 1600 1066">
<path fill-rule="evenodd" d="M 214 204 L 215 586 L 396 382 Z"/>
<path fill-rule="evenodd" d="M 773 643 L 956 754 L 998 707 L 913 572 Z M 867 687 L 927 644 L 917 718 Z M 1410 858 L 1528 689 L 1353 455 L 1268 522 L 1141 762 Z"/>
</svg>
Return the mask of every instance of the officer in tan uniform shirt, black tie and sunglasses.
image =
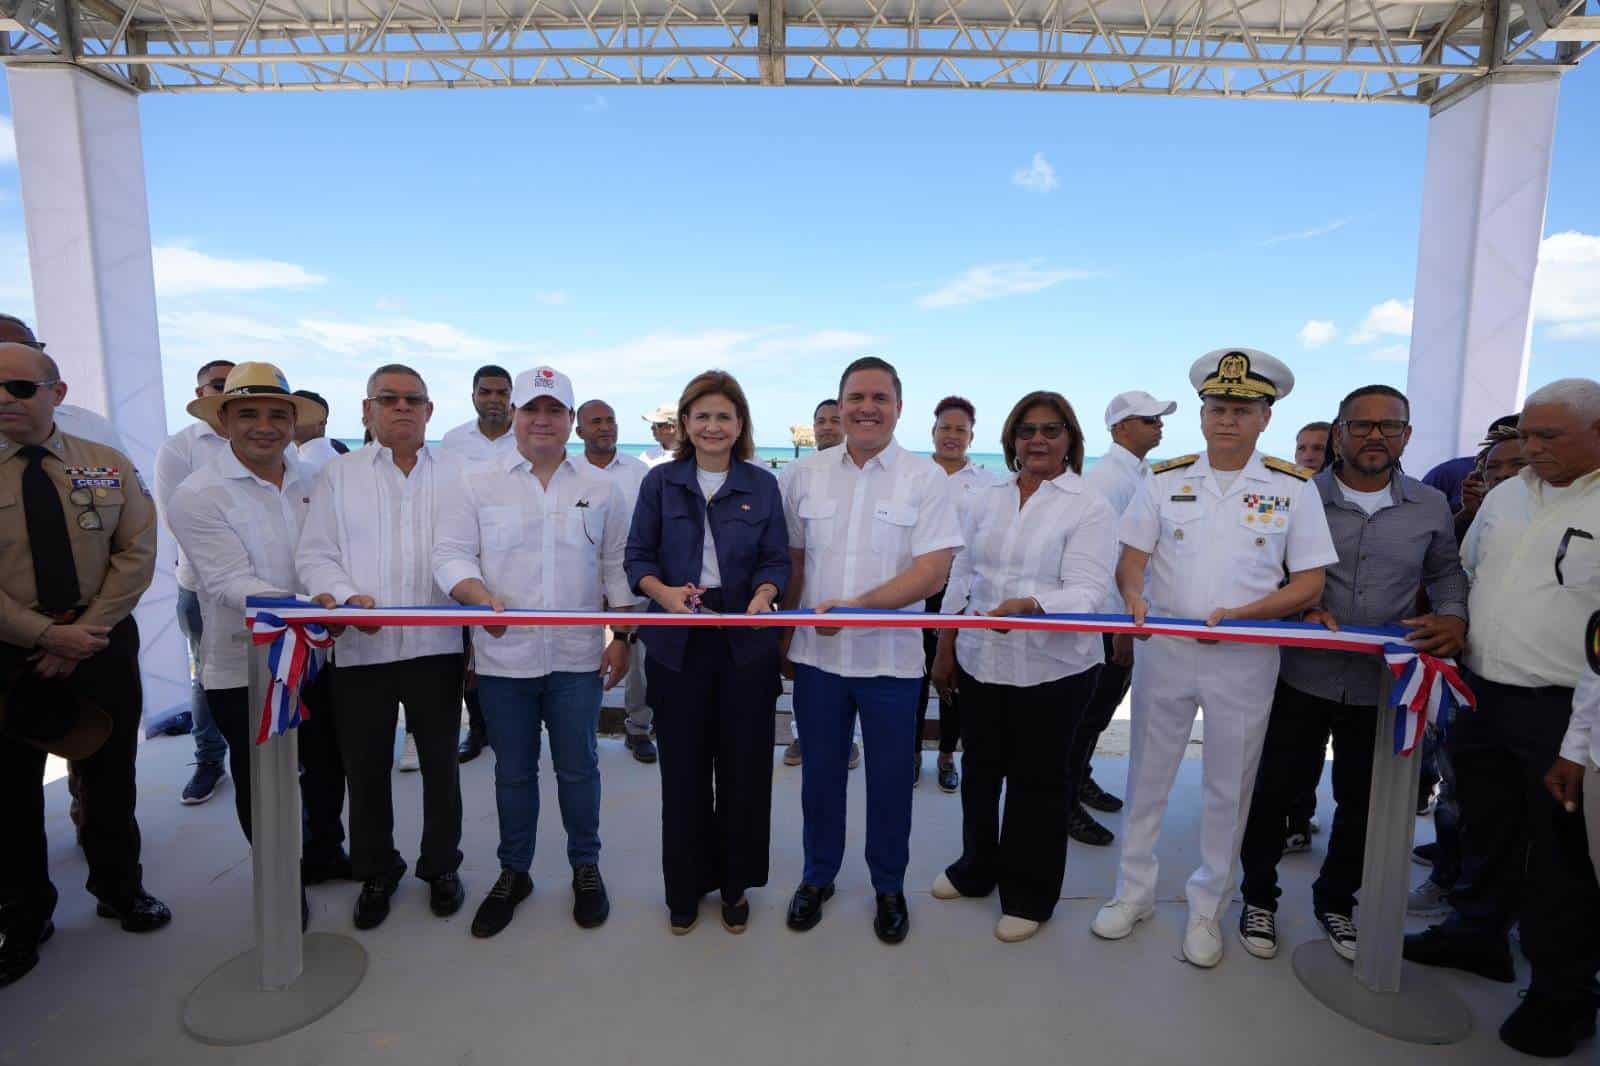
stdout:
<svg viewBox="0 0 1600 1066">
<path fill-rule="evenodd" d="M 0 986 L 38 964 L 54 932 L 45 757 L 85 789 L 86 888 L 130 933 L 171 912 L 144 892 L 134 752 L 144 695 L 133 608 L 155 573 L 155 504 L 125 455 L 62 435 L 56 363 L 0 344 Z"/>
</svg>

